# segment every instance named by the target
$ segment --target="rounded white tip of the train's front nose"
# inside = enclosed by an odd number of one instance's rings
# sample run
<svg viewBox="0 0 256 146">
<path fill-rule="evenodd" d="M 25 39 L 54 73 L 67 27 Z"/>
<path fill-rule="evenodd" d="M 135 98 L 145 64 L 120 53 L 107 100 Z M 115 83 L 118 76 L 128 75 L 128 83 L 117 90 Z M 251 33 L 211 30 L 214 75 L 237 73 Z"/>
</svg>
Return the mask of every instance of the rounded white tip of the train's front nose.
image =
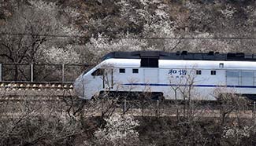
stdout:
<svg viewBox="0 0 256 146">
<path fill-rule="evenodd" d="M 73 86 L 74 86 L 74 90 L 76 92 L 76 95 L 80 98 L 84 98 L 83 75 L 80 75 L 78 78 L 76 78 Z"/>
</svg>

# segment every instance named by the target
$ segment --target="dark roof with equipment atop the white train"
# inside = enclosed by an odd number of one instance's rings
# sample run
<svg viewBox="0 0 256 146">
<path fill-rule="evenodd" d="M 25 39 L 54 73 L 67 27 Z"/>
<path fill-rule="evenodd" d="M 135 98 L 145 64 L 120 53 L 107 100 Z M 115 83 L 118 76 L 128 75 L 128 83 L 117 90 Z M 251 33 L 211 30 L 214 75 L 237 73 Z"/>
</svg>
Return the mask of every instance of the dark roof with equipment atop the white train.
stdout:
<svg viewBox="0 0 256 146">
<path fill-rule="evenodd" d="M 159 60 L 232 60 L 232 61 L 256 61 L 256 54 L 245 53 L 219 53 L 210 51 L 209 53 L 189 53 L 178 51 L 169 53 L 164 51 L 134 51 L 134 52 L 112 52 L 102 57 L 102 60 L 109 58 L 119 59 L 141 59 L 158 58 Z"/>
</svg>

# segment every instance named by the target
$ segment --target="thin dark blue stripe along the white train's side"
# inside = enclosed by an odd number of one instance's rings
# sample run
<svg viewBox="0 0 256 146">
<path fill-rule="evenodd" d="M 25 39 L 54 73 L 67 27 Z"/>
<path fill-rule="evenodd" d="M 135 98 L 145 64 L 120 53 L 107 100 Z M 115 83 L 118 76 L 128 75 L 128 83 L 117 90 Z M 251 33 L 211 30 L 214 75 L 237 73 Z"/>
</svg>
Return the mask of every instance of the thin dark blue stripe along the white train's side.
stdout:
<svg viewBox="0 0 256 146">
<path fill-rule="evenodd" d="M 147 83 L 126 83 L 124 86 L 191 86 L 179 84 L 147 84 Z M 198 87 L 228 87 L 228 88 L 256 88 L 256 86 L 223 86 L 223 85 L 192 85 Z"/>
</svg>

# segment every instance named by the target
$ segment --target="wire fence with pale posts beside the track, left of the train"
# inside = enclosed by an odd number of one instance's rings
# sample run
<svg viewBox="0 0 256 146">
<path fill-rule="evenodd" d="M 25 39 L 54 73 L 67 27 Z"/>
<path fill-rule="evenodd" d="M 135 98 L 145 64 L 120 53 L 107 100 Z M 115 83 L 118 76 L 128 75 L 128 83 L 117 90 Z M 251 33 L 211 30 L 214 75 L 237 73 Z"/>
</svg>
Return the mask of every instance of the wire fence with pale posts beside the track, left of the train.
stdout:
<svg viewBox="0 0 256 146">
<path fill-rule="evenodd" d="M 0 64 L 0 82 L 73 82 L 85 64 Z"/>
</svg>

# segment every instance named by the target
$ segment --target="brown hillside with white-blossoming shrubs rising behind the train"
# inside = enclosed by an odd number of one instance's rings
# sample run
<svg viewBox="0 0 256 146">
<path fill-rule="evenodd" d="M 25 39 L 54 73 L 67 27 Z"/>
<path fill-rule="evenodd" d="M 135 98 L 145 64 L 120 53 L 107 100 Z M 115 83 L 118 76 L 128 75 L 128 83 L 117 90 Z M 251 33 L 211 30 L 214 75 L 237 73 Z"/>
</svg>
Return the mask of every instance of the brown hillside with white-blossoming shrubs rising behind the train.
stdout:
<svg viewBox="0 0 256 146">
<path fill-rule="evenodd" d="M 2 32 L 54 35 L 41 36 L 39 42 L 28 36 L 23 38 L 26 40 L 22 42 L 24 49 L 30 44 L 38 44 L 28 60 L 20 60 L 18 56 L 30 51 L 21 51 L 19 55 L 14 51 L 10 55 L 2 44 L 2 62 L 94 63 L 113 50 L 256 52 L 255 41 L 251 39 L 256 31 L 256 3 L 253 0 L 3 0 L 0 6 Z M 34 16 L 26 14 L 25 7 Z M 23 27 L 6 28 L 6 25 L 14 26 L 20 19 L 15 17 L 20 15 L 26 17 L 18 22 L 24 23 Z M 27 20 L 31 22 L 25 22 Z M 46 23 L 41 25 L 40 20 Z M 60 35 L 72 37 L 60 38 Z M 1 41 L 6 46 L 20 48 L 13 42 L 18 42 L 22 36 L 8 37 L 11 38 L 2 36 Z M 59 53 L 53 55 L 53 52 Z M 56 59 L 56 56 L 62 57 Z M 72 60 L 68 60 L 70 57 Z"/>
</svg>

